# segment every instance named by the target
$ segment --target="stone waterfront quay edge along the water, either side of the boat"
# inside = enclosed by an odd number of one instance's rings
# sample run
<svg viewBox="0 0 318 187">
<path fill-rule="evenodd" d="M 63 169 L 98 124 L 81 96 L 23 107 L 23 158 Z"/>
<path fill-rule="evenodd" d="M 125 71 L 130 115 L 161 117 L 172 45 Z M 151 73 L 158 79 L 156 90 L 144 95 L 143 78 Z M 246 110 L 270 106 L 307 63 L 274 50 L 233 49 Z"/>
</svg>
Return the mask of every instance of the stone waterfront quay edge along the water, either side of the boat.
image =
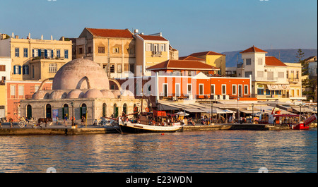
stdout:
<svg viewBox="0 0 318 187">
<path fill-rule="evenodd" d="M 312 128 L 317 128 L 317 123 L 310 125 Z M 290 130 L 288 126 L 273 126 L 265 124 L 252 123 L 224 123 L 212 124 L 209 126 L 202 126 L 196 124 L 195 126 L 184 126 L 183 131 L 230 131 L 230 130 L 249 130 L 249 131 L 275 131 L 275 130 Z M 17 124 L 10 128 L 8 123 L 3 123 L 0 128 L 0 135 L 80 135 L 80 134 L 105 134 L 105 133 L 119 133 L 118 128 L 113 126 L 96 127 L 96 126 L 78 126 L 78 128 L 71 128 L 71 126 L 52 125 L 43 128 L 20 128 Z"/>
</svg>

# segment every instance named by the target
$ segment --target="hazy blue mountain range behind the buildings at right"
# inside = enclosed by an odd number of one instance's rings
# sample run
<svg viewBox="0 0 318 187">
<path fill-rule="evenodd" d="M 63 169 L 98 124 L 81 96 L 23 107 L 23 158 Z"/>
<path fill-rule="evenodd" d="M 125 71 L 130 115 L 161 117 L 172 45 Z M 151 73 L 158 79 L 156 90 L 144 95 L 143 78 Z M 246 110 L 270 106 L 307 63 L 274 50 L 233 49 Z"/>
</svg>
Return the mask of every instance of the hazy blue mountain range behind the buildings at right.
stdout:
<svg viewBox="0 0 318 187">
<path fill-rule="evenodd" d="M 268 52 L 266 56 L 275 56 L 277 59 L 280 59 L 283 62 L 298 62 L 297 51 L 298 49 L 264 49 Z M 234 52 L 223 52 L 222 54 L 226 55 L 226 67 L 235 67 L 237 65 L 237 55 L 238 62 L 242 62 L 242 51 Z M 302 49 L 304 57 L 302 59 L 307 59 L 310 56 L 317 56 L 317 49 Z"/>
</svg>

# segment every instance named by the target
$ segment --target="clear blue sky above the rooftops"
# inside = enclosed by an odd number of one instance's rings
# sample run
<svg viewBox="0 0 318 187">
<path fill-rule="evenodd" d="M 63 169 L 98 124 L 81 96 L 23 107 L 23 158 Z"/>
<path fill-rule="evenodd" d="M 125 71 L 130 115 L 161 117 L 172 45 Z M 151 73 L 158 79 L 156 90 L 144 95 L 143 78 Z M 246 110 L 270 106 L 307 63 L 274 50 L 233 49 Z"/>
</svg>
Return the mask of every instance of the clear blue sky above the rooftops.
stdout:
<svg viewBox="0 0 318 187">
<path fill-rule="evenodd" d="M 163 32 L 179 56 L 317 49 L 317 0 L 0 0 L 0 32 L 45 39 L 83 28 Z"/>
</svg>

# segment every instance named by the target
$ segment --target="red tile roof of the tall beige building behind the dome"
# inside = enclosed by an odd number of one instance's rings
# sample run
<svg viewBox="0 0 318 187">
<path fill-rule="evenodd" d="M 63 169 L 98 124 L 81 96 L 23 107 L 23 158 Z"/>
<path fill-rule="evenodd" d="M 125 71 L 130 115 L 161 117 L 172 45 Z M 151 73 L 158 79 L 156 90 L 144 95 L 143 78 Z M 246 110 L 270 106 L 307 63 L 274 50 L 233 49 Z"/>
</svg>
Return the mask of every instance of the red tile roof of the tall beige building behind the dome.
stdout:
<svg viewBox="0 0 318 187">
<path fill-rule="evenodd" d="M 86 28 L 92 35 L 98 37 L 126 37 L 134 38 L 133 34 L 128 30 L 120 29 L 99 29 L 99 28 Z"/>
</svg>

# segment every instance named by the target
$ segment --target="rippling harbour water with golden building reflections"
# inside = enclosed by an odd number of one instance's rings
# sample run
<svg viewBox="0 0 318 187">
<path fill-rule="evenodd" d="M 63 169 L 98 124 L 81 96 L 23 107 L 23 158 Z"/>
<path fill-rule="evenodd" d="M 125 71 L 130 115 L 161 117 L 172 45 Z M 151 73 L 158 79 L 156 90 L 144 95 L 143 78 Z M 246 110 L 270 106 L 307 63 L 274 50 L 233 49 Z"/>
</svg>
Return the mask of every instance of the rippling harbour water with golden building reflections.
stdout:
<svg viewBox="0 0 318 187">
<path fill-rule="evenodd" d="M 0 137 L 0 172 L 317 172 L 311 131 Z"/>
</svg>

